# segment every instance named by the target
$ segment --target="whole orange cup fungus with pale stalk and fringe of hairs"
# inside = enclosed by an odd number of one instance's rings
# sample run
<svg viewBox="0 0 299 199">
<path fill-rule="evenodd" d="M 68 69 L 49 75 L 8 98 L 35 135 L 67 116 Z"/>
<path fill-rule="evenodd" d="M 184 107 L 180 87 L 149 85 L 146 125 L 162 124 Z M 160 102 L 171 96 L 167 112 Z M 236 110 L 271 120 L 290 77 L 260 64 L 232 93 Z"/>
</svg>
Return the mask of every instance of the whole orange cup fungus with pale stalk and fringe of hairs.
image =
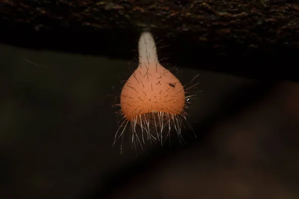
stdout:
<svg viewBox="0 0 299 199">
<path fill-rule="evenodd" d="M 114 144 L 121 137 L 123 143 L 126 129 L 130 130 L 132 147 L 135 148 L 139 144 L 143 149 L 142 145 L 147 140 L 163 144 L 167 137 L 170 140 L 172 129 L 176 131 L 179 141 L 184 143 L 181 129 L 185 122 L 189 125 L 185 109 L 188 108 L 188 100 L 196 96 L 186 95 L 197 84 L 184 88 L 180 81 L 159 63 L 151 33 L 142 33 L 138 47 L 138 68 L 125 83 L 120 95 L 118 105 L 121 110 L 117 112 L 120 116 L 119 128 Z"/>
</svg>

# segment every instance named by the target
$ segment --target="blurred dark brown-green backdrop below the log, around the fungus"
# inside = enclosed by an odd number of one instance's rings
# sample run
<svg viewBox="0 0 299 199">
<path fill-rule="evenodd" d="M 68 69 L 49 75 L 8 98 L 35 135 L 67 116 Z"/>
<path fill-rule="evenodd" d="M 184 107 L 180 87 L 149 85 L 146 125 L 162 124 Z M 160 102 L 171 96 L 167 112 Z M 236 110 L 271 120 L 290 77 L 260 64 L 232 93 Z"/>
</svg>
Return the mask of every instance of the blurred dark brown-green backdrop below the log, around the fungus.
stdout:
<svg viewBox="0 0 299 199">
<path fill-rule="evenodd" d="M 134 64 L 1 44 L 0 66 L 1 199 L 299 198 L 298 83 L 177 66 L 199 74 L 197 139 L 120 154 L 111 96 Z"/>
</svg>

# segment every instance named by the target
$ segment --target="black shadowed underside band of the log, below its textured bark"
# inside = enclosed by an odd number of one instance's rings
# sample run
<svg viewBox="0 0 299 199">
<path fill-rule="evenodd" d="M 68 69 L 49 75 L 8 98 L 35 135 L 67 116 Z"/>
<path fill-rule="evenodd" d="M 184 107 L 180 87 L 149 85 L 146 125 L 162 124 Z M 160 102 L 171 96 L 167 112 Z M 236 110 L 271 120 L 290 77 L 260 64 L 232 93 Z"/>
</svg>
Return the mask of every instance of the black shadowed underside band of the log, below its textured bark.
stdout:
<svg viewBox="0 0 299 199">
<path fill-rule="evenodd" d="M 43 23 L 52 22 L 43 21 Z M 22 27 L 21 24 L 12 27 L 13 24 L 2 21 L 1 43 L 125 60 L 132 60 L 136 56 L 138 39 L 142 31 L 135 27 L 95 31 L 93 28 L 79 27 L 78 24 L 70 24 L 72 28 L 54 28 L 59 31 L 33 31 L 34 27 L 25 25 Z M 11 29 L 13 32 L 9 31 Z M 20 36 L 19 32 L 23 35 Z M 249 41 L 241 45 L 233 38 L 225 38 L 221 43 L 216 42 L 225 48 L 217 48 L 213 42 L 203 41 L 195 45 L 193 41 L 197 40 L 198 33 L 180 33 L 167 38 L 164 32 L 153 31 L 153 34 L 169 45 L 167 51 L 161 50 L 159 55 L 168 54 L 167 62 L 174 66 L 261 80 L 299 81 L 294 67 L 299 65 L 298 50 L 292 49 L 288 41 L 256 48 L 249 47 L 251 46 Z M 212 34 L 210 37 L 213 39 Z M 294 41 L 296 39 L 294 38 Z"/>
</svg>

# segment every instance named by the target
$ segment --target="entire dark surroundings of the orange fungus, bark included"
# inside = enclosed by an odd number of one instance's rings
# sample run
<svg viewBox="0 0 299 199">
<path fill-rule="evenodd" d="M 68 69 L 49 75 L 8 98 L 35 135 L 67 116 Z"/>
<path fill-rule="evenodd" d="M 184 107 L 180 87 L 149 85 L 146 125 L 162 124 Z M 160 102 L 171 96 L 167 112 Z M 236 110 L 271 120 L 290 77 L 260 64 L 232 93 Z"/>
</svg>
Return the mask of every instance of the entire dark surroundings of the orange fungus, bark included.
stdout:
<svg viewBox="0 0 299 199">
<path fill-rule="evenodd" d="M 0 199 L 298 199 L 298 21 L 296 0 L 2 0 Z M 144 29 L 199 74 L 197 139 L 120 154 Z"/>
</svg>

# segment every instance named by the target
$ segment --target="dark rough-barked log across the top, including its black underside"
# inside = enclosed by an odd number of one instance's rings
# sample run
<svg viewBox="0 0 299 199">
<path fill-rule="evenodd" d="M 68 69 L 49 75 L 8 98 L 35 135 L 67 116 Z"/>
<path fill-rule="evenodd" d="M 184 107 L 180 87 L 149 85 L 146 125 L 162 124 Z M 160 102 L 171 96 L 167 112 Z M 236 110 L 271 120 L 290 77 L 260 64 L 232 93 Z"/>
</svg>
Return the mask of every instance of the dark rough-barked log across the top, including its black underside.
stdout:
<svg viewBox="0 0 299 199">
<path fill-rule="evenodd" d="M 149 29 L 168 44 L 160 56 L 169 53 L 171 64 L 297 80 L 297 0 L 2 0 L 0 6 L 0 41 L 9 44 L 132 59 L 140 32 Z"/>
</svg>

